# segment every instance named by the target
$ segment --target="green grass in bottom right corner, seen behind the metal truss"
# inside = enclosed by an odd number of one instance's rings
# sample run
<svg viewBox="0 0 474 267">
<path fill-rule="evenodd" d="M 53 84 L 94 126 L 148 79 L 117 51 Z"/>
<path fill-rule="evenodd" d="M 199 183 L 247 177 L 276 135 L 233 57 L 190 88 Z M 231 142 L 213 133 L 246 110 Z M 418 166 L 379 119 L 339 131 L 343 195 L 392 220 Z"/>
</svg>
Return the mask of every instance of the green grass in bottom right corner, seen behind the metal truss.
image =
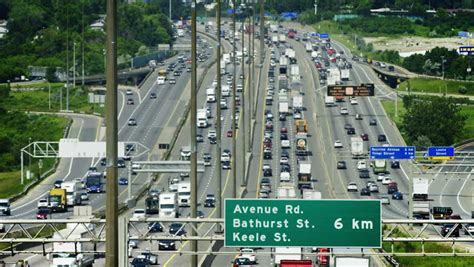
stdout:
<svg viewBox="0 0 474 267">
<path fill-rule="evenodd" d="M 400 231 L 395 230 L 391 237 L 408 237 L 406 233 L 401 233 Z M 382 248 L 386 252 L 392 251 L 392 243 L 383 242 Z M 421 243 L 418 242 L 394 242 L 393 243 L 395 253 L 404 253 L 404 252 L 422 252 Z M 425 243 L 425 252 L 426 253 L 450 253 L 452 252 L 449 242 L 446 243 Z M 456 252 L 462 253 L 464 251 L 456 249 Z M 447 256 L 429 256 L 429 257 L 395 257 L 396 261 L 400 263 L 400 266 L 450 266 L 450 267 L 461 267 L 461 266 L 474 266 L 473 257 L 447 257 Z"/>
</svg>

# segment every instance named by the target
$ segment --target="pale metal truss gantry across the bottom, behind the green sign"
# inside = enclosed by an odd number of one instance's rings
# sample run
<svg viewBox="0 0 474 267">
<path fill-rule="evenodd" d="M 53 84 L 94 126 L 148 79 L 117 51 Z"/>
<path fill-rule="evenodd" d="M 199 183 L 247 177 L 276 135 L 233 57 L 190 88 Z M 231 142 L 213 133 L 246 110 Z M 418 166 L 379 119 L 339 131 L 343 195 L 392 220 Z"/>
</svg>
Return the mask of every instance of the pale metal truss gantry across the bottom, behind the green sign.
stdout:
<svg viewBox="0 0 474 267">
<path fill-rule="evenodd" d="M 123 218 L 124 229 L 121 231 L 126 231 L 127 234 L 124 235 L 126 240 L 123 244 L 126 244 L 128 240 L 136 241 L 147 241 L 153 242 L 157 240 L 175 240 L 175 241 L 189 241 L 189 240 L 198 240 L 204 242 L 212 241 L 223 241 L 224 235 L 222 233 L 216 233 L 217 225 L 224 225 L 224 219 L 222 218 Z M 51 244 L 54 242 L 74 242 L 78 243 L 93 243 L 97 246 L 100 243 L 105 243 L 105 222 L 104 219 L 51 219 L 51 220 L 0 220 L 0 223 L 7 225 L 7 231 L 0 237 L 0 244 L 8 244 L 9 247 L 6 250 L 0 251 L 0 255 L 14 255 L 14 254 L 48 254 L 52 253 L 52 248 L 45 246 L 46 244 Z M 200 230 L 199 227 L 196 228 L 198 235 L 196 236 L 173 236 L 166 234 L 155 234 L 150 233 L 148 229 L 149 223 L 182 223 L 183 228 L 192 227 L 193 223 L 197 224 L 208 224 L 210 227 L 204 230 Z M 438 224 L 451 223 L 454 224 L 452 230 L 446 235 L 443 236 L 440 231 L 437 231 L 436 227 Z M 380 250 L 368 250 L 361 249 L 360 252 L 344 252 L 344 253 L 318 253 L 318 255 L 337 255 L 337 256 L 351 256 L 351 255 L 380 255 L 380 256 L 474 256 L 474 250 L 460 250 L 456 249 L 455 246 L 461 245 L 463 243 L 474 242 L 474 233 L 468 232 L 464 237 L 450 237 L 453 234 L 454 229 L 460 227 L 459 231 L 467 230 L 466 224 L 473 224 L 474 219 L 468 220 L 408 220 L 408 219 L 390 219 L 382 220 L 383 224 L 383 236 L 382 241 L 391 243 L 391 251 L 380 251 Z M 64 225 L 69 224 L 69 231 L 59 230 L 64 229 Z M 413 224 L 422 226 L 414 227 Z M 93 225 L 94 227 L 91 227 Z M 31 226 L 37 229 L 36 232 L 32 233 Z M 62 227 L 59 227 L 62 226 Z M 72 227 L 71 227 L 72 226 Z M 88 230 L 81 238 L 70 238 L 69 235 L 77 227 L 86 227 Z M 38 230 L 39 229 L 39 230 Z M 433 231 L 434 230 L 434 231 Z M 16 231 L 15 236 L 13 236 L 14 231 Z M 49 231 L 49 232 L 48 232 Z M 62 231 L 61 235 L 58 235 Z M 19 234 L 20 233 L 20 234 Z M 58 234 L 54 234 L 58 233 Z M 416 252 L 397 252 L 395 250 L 395 243 L 413 243 L 418 242 L 421 244 L 421 251 Z M 29 243 L 42 246 L 41 250 L 17 250 L 14 247 L 14 244 L 17 243 Z M 450 252 L 427 252 L 425 250 L 425 245 L 427 243 L 444 243 L 446 246 L 451 248 Z M 135 252 L 140 252 L 135 249 Z M 148 251 L 148 250 L 147 250 Z M 54 253 L 60 253 L 63 251 L 54 251 Z M 65 251 L 64 251 L 65 252 Z M 84 253 L 103 253 L 101 250 L 86 251 Z M 145 251 L 143 251 L 145 252 Z M 151 252 L 158 252 L 151 251 Z M 161 254 L 180 254 L 180 255 L 225 255 L 225 254 L 235 254 L 235 251 L 159 251 Z M 272 254 L 269 251 L 259 251 L 259 255 L 269 255 Z M 274 254 L 274 253 L 273 253 Z M 307 252 L 304 254 L 315 255 L 314 252 Z"/>
</svg>

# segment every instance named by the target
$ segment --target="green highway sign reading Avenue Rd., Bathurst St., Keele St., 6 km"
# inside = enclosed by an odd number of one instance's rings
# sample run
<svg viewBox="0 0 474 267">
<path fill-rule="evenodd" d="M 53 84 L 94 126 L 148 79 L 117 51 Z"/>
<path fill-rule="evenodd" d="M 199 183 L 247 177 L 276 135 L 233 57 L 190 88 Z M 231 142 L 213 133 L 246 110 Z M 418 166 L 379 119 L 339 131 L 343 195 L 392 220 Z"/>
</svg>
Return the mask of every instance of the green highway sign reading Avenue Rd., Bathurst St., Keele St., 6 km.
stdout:
<svg viewBox="0 0 474 267">
<path fill-rule="evenodd" d="M 380 248 L 380 200 L 226 199 L 226 247 Z"/>
</svg>

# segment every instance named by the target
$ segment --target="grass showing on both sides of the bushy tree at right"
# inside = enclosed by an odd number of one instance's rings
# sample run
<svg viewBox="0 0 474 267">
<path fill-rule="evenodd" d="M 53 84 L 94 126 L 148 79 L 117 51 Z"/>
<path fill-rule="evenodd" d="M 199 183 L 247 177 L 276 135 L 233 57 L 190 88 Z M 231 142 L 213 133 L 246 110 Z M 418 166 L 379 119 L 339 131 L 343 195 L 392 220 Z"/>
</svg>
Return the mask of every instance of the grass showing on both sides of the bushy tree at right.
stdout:
<svg viewBox="0 0 474 267">
<path fill-rule="evenodd" d="M 398 117 L 395 117 L 395 101 L 383 100 L 382 106 L 390 120 L 394 121 L 397 128 L 400 129 L 402 126 L 402 116 L 406 112 L 403 101 L 401 99 L 398 100 Z M 472 138 L 474 136 L 474 106 L 461 106 L 461 113 L 467 116 L 464 138 Z M 405 136 L 404 139 L 407 140 Z"/>
</svg>

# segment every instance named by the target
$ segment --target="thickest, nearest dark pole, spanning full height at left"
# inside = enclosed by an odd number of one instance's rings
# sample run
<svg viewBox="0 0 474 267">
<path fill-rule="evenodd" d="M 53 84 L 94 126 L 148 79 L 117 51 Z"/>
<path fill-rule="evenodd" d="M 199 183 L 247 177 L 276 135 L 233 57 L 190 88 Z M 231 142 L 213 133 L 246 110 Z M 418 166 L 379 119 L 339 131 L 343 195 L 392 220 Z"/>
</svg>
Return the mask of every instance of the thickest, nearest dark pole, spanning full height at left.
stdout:
<svg viewBox="0 0 474 267">
<path fill-rule="evenodd" d="M 117 121 L 117 2 L 107 0 L 107 66 L 106 66 L 106 237 L 105 264 L 119 266 L 118 254 L 118 121 Z M 131 182 L 131 181 L 129 181 Z"/>
</svg>

